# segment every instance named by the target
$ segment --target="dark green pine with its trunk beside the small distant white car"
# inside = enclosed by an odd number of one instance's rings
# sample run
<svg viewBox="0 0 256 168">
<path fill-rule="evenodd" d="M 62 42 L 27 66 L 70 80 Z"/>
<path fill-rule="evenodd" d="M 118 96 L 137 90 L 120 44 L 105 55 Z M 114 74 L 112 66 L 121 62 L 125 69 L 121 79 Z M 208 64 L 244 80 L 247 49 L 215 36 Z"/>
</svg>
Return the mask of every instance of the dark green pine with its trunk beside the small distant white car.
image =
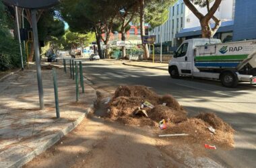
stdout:
<svg viewBox="0 0 256 168">
<path fill-rule="evenodd" d="M 69 24 L 71 32 L 83 34 L 95 32 L 98 54 L 102 56 L 100 46 L 102 34 L 106 33 L 103 41 L 104 44 L 108 44 L 115 18 L 115 10 L 110 9 L 115 7 L 115 3 L 111 3 L 110 0 L 64 0 L 59 9 L 63 19 Z"/>
</svg>

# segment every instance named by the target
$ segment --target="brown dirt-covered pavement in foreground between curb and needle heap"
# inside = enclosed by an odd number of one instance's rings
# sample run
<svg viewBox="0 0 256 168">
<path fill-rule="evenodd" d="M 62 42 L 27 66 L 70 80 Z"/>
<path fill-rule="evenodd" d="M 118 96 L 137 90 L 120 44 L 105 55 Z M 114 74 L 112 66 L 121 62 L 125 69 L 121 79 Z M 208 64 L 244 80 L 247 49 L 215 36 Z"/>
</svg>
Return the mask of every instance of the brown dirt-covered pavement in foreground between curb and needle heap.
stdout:
<svg viewBox="0 0 256 168">
<path fill-rule="evenodd" d="M 98 91 L 94 114 L 24 167 L 222 167 L 203 144 L 159 138 L 158 126 L 143 124 L 148 118 L 137 118 L 138 125 L 106 118 L 111 96 Z"/>
</svg>

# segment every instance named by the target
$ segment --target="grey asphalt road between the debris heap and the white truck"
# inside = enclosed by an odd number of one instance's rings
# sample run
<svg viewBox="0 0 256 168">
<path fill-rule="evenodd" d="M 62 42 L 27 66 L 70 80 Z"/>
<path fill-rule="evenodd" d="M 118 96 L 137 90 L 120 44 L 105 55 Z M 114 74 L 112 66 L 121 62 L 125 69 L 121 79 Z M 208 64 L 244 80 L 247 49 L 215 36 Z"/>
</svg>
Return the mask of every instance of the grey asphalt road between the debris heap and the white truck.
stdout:
<svg viewBox="0 0 256 168">
<path fill-rule="evenodd" d="M 236 89 L 205 79 L 170 79 L 168 72 L 121 65 L 120 62 L 86 61 L 84 73 L 95 87 L 114 91 L 119 85 L 146 85 L 159 94 L 172 94 L 194 116 L 215 112 L 236 130 L 235 149 L 211 151 L 227 167 L 256 165 L 256 87 L 241 83 Z"/>
</svg>

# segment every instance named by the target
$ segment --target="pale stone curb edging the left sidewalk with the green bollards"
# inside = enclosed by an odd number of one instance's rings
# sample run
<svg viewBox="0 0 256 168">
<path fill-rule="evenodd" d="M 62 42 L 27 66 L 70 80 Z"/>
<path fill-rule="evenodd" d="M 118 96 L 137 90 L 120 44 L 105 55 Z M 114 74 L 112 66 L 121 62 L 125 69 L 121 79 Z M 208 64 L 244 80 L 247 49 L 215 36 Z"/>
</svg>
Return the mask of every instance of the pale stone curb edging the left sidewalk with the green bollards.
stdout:
<svg viewBox="0 0 256 168">
<path fill-rule="evenodd" d="M 95 89 L 94 89 L 94 95 L 95 95 L 95 97 L 94 97 L 94 101 L 93 102 L 95 103 L 96 99 L 97 99 L 97 95 L 96 95 L 96 90 Z M 77 120 L 75 120 L 74 122 L 69 123 L 66 126 L 66 128 L 63 128 L 59 132 L 56 132 L 55 134 L 52 134 L 51 138 L 49 138 L 49 140 L 44 142 L 42 145 L 37 146 L 36 149 L 34 149 L 33 151 L 31 151 L 30 153 L 28 153 L 26 156 L 22 157 L 21 159 L 15 161 L 15 163 L 13 163 L 12 165 L 8 165 L 7 167 L 8 168 L 9 167 L 10 168 L 22 167 L 26 163 L 32 161 L 32 159 L 34 159 L 36 156 L 40 155 L 41 153 L 43 153 L 44 151 L 49 149 L 51 146 L 56 144 L 63 136 L 65 136 L 66 134 L 71 132 L 76 126 L 78 126 L 78 124 L 80 124 L 82 122 L 82 120 L 84 120 L 84 118 L 86 118 L 88 113 L 90 113 L 90 112 L 92 112 L 94 110 L 94 103 L 89 108 L 87 108 L 86 112 L 84 112 L 82 114 L 82 116 L 77 118 Z"/>
</svg>

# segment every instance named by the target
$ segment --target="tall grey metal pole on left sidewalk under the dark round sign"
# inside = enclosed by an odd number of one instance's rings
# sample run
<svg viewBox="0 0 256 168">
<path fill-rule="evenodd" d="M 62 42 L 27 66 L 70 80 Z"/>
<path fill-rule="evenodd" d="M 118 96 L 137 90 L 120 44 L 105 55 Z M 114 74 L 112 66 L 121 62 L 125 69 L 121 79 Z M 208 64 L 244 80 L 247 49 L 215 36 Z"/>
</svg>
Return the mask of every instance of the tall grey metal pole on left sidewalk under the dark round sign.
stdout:
<svg viewBox="0 0 256 168">
<path fill-rule="evenodd" d="M 42 110 L 44 109 L 44 91 L 42 89 L 42 74 L 41 74 L 41 65 L 40 65 L 39 44 L 38 44 L 36 9 L 31 9 L 31 19 L 32 19 L 33 39 L 34 39 L 34 53 L 36 56 L 36 73 L 37 73 L 39 102 L 40 102 L 40 109 Z"/>
</svg>

